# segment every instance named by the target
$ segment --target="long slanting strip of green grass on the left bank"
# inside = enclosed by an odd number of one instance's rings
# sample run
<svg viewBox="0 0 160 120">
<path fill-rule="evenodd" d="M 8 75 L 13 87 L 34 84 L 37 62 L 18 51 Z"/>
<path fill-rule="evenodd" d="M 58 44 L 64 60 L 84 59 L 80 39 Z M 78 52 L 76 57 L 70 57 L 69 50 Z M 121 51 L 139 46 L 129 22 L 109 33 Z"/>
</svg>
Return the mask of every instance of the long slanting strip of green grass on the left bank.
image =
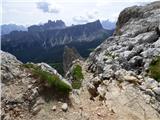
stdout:
<svg viewBox="0 0 160 120">
<path fill-rule="evenodd" d="M 62 81 L 57 75 L 51 74 L 47 71 L 43 71 L 40 67 L 34 64 L 23 64 L 24 67 L 30 69 L 34 76 L 38 77 L 40 80 L 46 80 L 50 86 L 57 88 L 58 90 L 69 93 L 72 88 Z"/>
</svg>

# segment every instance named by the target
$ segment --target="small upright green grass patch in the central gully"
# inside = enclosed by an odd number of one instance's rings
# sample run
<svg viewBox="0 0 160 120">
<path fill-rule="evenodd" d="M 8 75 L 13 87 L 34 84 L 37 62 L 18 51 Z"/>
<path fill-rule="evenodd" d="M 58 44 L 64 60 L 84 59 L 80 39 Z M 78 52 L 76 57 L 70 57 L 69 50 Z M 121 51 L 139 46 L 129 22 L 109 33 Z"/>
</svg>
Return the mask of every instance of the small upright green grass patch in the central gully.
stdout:
<svg viewBox="0 0 160 120">
<path fill-rule="evenodd" d="M 73 77 L 72 87 L 74 89 L 79 89 L 81 87 L 82 80 L 84 79 L 82 74 L 82 67 L 80 65 L 74 66 L 71 75 Z"/>
</svg>

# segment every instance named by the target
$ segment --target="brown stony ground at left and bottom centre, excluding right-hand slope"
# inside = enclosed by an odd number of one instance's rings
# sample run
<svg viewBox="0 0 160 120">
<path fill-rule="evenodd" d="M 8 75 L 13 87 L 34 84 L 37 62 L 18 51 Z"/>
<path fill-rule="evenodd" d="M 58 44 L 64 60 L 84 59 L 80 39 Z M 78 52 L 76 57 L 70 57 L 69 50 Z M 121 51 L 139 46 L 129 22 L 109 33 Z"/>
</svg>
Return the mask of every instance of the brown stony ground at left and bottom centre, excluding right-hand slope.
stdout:
<svg viewBox="0 0 160 120">
<path fill-rule="evenodd" d="M 114 118 L 113 111 L 101 101 L 90 99 L 86 87 L 74 90 L 69 97 L 52 89 L 43 93 L 37 79 L 22 67 L 13 55 L 2 55 L 2 114 L 3 120 L 88 120 Z M 45 68 L 46 64 L 41 63 Z M 83 64 L 84 65 L 84 64 Z M 85 66 L 85 65 L 84 65 Z M 90 79 L 92 74 L 83 74 Z M 49 69 L 47 69 L 49 70 Z M 8 80 L 8 81 L 7 81 Z"/>
</svg>

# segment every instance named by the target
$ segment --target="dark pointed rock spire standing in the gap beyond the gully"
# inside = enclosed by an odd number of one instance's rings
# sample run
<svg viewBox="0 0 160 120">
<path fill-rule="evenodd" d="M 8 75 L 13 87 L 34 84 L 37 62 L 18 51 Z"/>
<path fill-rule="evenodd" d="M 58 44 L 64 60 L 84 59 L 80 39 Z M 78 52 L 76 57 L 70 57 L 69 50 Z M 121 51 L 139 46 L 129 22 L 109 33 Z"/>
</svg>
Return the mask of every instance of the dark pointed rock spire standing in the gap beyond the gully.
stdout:
<svg viewBox="0 0 160 120">
<path fill-rule="evenodd" d="M 65 73 L 67 73 L 72 66 L 72 62 L 76 59 L 82 59 L 78 51 L 75 48 L 65 46 L 63 53 L 63 69 Z"/>
</svg>

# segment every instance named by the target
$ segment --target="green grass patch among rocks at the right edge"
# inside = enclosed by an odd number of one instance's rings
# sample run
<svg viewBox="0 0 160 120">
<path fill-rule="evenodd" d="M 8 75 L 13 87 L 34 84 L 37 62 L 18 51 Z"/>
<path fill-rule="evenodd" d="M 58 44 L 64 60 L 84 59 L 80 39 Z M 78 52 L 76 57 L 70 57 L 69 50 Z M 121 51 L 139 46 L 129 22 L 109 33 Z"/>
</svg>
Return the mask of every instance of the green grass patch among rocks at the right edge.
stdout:
<svg viewBox="0 0 160 120">
<path fill-rule="evenodd" d="M 149 66 L 149 75 L 158 82 L 160 82 L 160 56 L 152 60 Z"/>
</svg>

